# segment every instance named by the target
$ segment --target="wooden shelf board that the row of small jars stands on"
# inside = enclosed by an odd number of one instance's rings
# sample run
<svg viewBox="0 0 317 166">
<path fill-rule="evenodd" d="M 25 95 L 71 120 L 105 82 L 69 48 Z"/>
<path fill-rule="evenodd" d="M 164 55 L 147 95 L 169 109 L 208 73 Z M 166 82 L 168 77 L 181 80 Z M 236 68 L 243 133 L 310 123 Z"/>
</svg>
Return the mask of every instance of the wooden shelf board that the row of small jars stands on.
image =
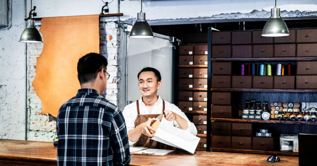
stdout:
<svg viewBox="0 0 317 166">
<path fill-rule="evenodd" d="M 284 121 L 284 120 L 255 120 L 255 119 L 230 119 L 230 118 L 210 118 L 211 121 L 227 121 L 227 122 L 250 122 L 250 123 L 284 123 L 284 124 L 314 124 L 313 121 Z"/>
</svg>

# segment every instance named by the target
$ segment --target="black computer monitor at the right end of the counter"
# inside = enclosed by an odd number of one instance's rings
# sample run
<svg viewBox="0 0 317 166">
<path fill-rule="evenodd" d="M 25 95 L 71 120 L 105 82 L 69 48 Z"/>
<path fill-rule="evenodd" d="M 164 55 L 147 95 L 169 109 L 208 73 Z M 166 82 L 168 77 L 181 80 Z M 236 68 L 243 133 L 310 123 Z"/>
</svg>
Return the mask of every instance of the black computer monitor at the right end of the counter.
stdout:
<svg viewBox="0 0 317 166">
<path fill-rule="evenodd" d="M 300 166 L 312 166 L 316 165 L 314 153 L 317 149 L 317 140 L 316 134 L 299 134 L 298 135 L 298 149 L 299 149 L 299 165 Z"/>
</svg>

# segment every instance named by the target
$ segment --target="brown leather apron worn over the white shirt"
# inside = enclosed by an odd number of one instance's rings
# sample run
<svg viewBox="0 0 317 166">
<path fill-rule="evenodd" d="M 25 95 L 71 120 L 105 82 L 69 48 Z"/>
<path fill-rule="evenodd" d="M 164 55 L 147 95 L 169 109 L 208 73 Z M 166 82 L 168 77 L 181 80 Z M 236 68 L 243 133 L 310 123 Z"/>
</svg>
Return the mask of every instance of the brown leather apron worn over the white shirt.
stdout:
<svg viewBox="0 0 317 166">
<path fill-rule="evenodd" d="M 165 102 L 163 100 L 163 110 L 165 110 Z M 140 115 L 140 109 L 139 109 L 139 100 L 137 100 L 137 111 L 138 116 L 134 121 L 134 127 L 139 126 L 139 124 L 146 122 L 149 118 L 156 118 L 161 114 L 147 114 L 147 115 Z M 146 147 L 146 148 L 152 148 L 152 149 L 173 149 L 175 150 L 175 147 L 166 145 L 164 143 L 159 143 L 157 141 L 154 141 L 150 139 L 148 136 L 142 134 L 139 138 L 139 141 L 133 144 L 134 147 Z"/>
</svg>

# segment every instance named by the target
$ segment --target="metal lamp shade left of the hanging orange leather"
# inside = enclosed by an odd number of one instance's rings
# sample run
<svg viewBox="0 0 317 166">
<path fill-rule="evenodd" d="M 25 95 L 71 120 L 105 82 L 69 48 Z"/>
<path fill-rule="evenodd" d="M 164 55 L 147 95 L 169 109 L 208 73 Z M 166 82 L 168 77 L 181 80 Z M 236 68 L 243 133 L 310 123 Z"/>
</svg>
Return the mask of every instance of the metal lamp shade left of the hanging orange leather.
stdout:
<svg viewBox="0 0 317 166">
<path fill-rule="evenodd" d="M 26 28 L 23 30 L 19 42 L 23 43 L 43 43 L 40 32 L 34 26 L 34 20 L 28 20 Z"/>
</svg>

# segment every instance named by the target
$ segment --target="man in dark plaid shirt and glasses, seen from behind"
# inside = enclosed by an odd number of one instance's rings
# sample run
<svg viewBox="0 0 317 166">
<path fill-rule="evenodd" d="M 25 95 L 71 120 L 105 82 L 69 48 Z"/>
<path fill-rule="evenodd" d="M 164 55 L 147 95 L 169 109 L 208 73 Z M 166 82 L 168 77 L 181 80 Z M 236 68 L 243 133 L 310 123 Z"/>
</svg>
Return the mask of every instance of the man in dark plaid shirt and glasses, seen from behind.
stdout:
<svg viewBox="0 0 317 166">
<path fill-rule="evenodd" d="M 97 53 L 79 59 L 81 89 L 61 106 L 57 116 L 57 165 L 130 163 L 122 111 L 100 96 L 110 76 L 106 67 L 107 59 Z"/>
</svg>

